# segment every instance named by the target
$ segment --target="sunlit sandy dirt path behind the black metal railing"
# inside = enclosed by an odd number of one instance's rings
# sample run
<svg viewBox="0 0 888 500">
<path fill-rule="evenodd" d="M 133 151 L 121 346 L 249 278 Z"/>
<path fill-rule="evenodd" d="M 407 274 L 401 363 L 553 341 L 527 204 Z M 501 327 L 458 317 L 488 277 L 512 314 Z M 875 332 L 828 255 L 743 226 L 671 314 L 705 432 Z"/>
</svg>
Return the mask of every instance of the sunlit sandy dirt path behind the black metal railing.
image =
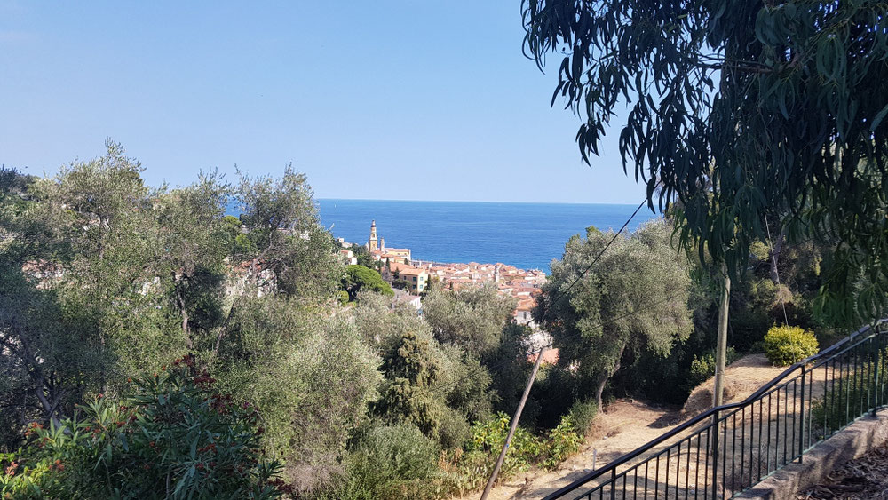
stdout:
<svg viewBox="0 0 888 500">
<path fill-rule="evenodd" d="M 725 370 L 725 402 L 746 398 L 782 371 L 772 367 L 763 354 L 750 354 L 735 361 Z M 519 474 L 497 485 L 488 498 L 541 498 L 566 486 L 595 467 L 607 464 L 708 409 L 712 384 L 710 379 L 694 389 L 684 409 L 667 409 L 638 400 L 615 401 L 607 406 L 607 412 L 595 418 L 580 452 L 568 458 L 559 470 L 535 469 Z M 477 497 L 478 493 L 464 496 Z"/>
</svg>

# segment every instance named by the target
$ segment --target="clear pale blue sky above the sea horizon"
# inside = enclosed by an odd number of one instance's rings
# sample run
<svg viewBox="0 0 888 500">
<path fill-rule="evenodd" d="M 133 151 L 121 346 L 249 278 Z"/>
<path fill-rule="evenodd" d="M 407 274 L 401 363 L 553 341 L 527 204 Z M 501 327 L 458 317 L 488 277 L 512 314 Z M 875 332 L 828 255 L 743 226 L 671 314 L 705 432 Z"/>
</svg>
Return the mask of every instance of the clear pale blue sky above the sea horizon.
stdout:
<svg viewBox="0 0 888 500">
<path fill-rule="evenodd" d="M 111 137 L 154 185 L 292 162 L 321 198 L 640 202 L 616 130 L 580 162 L 523 33 L 520 0 L 0 0 L 0 163 Z"/>
</svg>

